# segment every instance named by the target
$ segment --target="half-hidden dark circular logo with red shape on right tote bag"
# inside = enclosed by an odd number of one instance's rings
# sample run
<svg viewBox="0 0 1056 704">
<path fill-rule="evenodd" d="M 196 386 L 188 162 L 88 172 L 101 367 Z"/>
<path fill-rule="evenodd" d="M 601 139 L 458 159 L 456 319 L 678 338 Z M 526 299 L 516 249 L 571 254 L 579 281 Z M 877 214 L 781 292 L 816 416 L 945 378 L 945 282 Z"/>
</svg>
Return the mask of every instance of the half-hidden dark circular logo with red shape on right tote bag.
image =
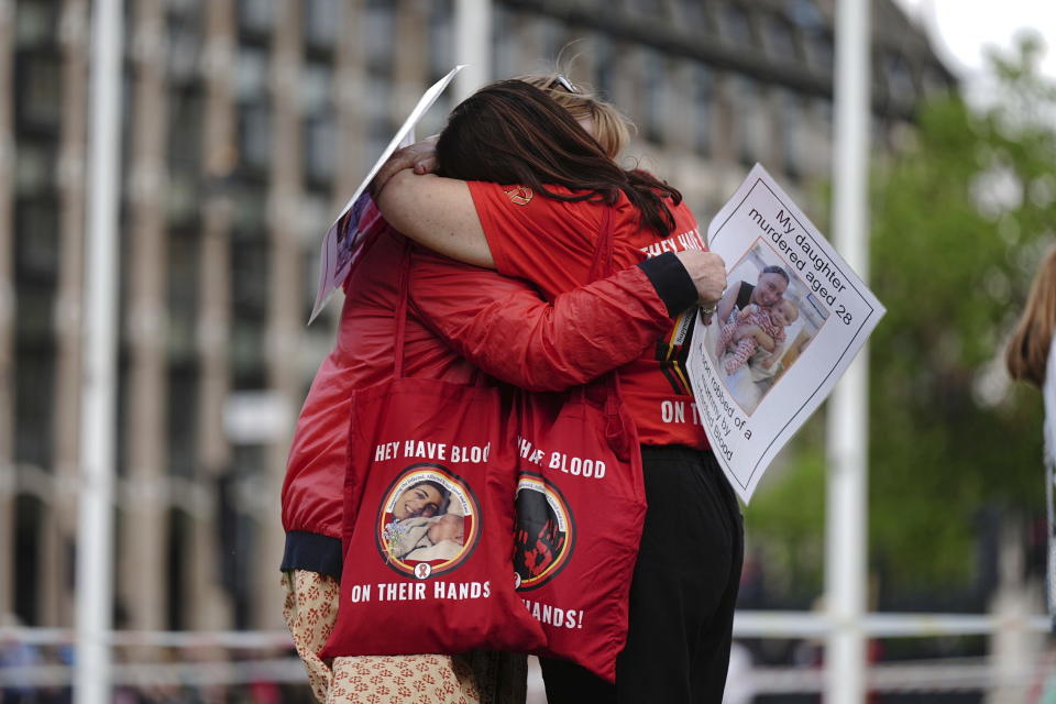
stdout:
<svg viewBox="0 0 1056 704">
<path fill-rule="evenodd" d="M 514 571 L 522 592 L 542 586 L 569 562 L 575 547 L 575 521 L 557 486 L 526 472 L 517 482 Z"/>
</svg>

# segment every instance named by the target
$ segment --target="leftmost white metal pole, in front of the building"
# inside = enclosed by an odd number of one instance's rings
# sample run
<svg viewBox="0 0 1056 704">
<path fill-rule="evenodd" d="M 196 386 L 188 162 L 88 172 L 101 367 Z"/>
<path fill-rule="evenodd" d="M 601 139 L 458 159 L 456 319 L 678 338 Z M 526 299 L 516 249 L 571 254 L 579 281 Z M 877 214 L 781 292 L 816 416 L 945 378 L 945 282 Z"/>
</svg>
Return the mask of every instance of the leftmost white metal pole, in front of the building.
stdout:
<svg viewBox="0 0 1056 704">
<path fill-rule="evenodd" d="M 114 399 L 121 3 L 95 0 L 91 28 L 88 243 L 85 271 L 85 374 L 81 395 L 81 484 L 77 544 L 78 704 L 111 700 L 109 645 L 113 608 Z"/>
</svg>

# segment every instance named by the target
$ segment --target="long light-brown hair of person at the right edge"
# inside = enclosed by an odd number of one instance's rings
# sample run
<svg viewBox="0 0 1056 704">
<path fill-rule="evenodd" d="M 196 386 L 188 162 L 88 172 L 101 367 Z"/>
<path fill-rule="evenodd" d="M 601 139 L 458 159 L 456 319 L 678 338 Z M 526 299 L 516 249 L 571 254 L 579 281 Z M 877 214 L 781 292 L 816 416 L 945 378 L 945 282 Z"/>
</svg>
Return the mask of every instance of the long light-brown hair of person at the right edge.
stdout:
<svg viewBox="0 0 1056 704">
<path fill-rule="evenodd" d="M 1004 352 L 1004 363 L 1012 378 L 1036 386 L 1045 383 L 1048 348 L 1056 330 L 1056 248 L 1042 260 L 1031 284 L 1026 308 L 1015 323 Z"/>
</svg>

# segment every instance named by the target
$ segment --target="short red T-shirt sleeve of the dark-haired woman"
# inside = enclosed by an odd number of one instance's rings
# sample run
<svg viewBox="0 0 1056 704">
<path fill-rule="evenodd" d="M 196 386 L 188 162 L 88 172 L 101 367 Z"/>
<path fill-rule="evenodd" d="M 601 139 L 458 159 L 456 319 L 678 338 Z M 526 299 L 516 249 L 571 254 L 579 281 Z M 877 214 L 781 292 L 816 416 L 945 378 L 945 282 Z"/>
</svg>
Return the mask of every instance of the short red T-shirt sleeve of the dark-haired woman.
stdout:
<svg viewBox="0 0 1056 704">
<path fill-rule="evenodd" d="M 586 279 L 601 207 L 548 198 L 524 186 L 469 186 L 501 274 L 531 280 L 547 298 L 568 290 L 570 282 Z"/>
</svg>

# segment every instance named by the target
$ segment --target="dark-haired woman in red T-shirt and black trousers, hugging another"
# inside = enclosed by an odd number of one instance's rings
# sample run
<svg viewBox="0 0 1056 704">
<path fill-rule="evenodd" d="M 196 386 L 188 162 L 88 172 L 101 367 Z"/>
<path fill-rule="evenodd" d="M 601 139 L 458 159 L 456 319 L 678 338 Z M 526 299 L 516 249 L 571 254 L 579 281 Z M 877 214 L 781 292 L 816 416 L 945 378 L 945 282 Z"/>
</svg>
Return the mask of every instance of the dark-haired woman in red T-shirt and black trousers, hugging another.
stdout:
<svg viewBox="0 0 1056 704">
<path fill-rule="evenodd" d="M 494 84 L 458 106 L 437 157 L 440 176 L 391 176 L 377 197 L 385 217 L 420 244 L 526 278 L 549 299 L 590 280 L 606 209 L 617 265 L 705 249 L 674 188 L 620 168 L 565 110 L 524 81 Z M 743 527 L 682 364 L 691 334 L 692 315 L 681 317 L 619 370 L 642 443 L 649 504 L 627 646 L 615 686 L 546 661 L 551 704 L 722 700 Z"/>
</svg>

